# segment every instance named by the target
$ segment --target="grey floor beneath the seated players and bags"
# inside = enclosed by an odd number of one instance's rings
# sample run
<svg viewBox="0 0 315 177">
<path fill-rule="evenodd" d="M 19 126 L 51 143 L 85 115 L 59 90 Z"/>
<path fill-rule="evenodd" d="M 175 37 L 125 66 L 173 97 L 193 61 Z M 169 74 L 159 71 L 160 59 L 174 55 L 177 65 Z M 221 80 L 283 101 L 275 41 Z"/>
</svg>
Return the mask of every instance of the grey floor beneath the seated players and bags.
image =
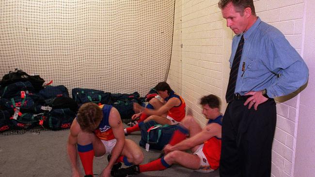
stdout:
<svg viewBox="0 0 315 177">
<path fill-rule="evenodd" d="M 68 134 L 69 130 L 0 133 L 0 177 L 71 177 L 66 151 Z M 126 138 L 139 144 L 141 136 L 134 133 Z M 143 163 L 155 160 L 159 155 L 157 151 L 142 150 Z M 107 158 L 94 158 L 94 174 L 100 174 L 107 163 Z M 163 171 L 145 172 L 134 177 L 219 177 L 219 172 L 203 174 L 173 165 Z"/>
</svg>

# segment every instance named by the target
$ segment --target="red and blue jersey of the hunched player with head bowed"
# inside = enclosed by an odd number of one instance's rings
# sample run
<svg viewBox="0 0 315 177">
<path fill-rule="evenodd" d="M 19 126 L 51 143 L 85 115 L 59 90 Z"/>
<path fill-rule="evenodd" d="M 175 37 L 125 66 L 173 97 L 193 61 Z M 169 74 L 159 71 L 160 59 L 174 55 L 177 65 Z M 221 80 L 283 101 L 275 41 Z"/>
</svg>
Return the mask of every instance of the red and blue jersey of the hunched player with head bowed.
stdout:
<svg viewBox="0 0 315 177">
<path fill-rule="evenodd" d="M 98 128 L 94 131 L 95 135 L 102 140 L 108 141 L 114 139 L 114 134 L 112 133 L 112 129 L 109 123 L 110 110 L 112 108 L 111 105 L 103 104 L 99 106 L 103 111 L 103 119 L 101 123 L 98 125 Z"/>
</svg>

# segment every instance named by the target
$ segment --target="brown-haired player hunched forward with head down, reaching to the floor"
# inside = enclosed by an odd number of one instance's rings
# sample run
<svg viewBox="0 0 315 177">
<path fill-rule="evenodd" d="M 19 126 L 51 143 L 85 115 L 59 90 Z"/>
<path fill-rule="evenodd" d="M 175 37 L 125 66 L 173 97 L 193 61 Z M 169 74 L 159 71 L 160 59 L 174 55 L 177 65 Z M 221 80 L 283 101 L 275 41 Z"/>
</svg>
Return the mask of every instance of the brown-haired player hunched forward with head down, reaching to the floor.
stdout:
<svg viewBox="0 0 315 177">
<path fill-rule="evenodd" d="M 133 141 L 125 139 L 119 112 L 107 104 L 100 106 L 95 103 L 82 104 L 77 118 L 72 122 L 68 138 L 72 177 L 81 176 L 77 166 L 77 150 L 85 177 L 93 177 L 94 156 L 111 154 L 109 164 L 102 171 L 101 177 L 110 177 L 114 163 L 125 162 L 129 166 L 143 161 L 140 147 Z"/>
</svg>

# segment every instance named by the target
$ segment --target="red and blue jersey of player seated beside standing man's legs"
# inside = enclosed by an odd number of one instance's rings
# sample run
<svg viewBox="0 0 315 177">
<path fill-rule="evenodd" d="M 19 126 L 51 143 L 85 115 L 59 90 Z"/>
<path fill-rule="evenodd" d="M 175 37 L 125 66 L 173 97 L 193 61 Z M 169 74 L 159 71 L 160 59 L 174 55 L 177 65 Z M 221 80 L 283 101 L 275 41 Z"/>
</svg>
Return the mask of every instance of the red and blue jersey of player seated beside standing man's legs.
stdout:
<svg viewBox="0 0 315 177">
<path fill-rule="evenodd" d="M 222 126 L 222 116 L 215 118 L 214 120 L 209 120 L 210 123 L 218 123 Z M 221 156 L 221 138 L 213 136 L 207 140 L 204 144 L 203 152 L 210 167 L 214 170 L 219 168 L 220 165 L 220 156 Z"/>
</svg>

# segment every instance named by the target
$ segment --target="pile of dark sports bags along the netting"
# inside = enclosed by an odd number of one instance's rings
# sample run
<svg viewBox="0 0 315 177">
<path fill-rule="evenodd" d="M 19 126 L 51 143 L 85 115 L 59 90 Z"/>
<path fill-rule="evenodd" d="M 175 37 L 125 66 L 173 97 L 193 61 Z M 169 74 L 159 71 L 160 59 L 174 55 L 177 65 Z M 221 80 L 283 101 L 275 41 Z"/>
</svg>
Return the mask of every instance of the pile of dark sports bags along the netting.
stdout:
<svg viewBox="0 0 315 177">
<path fill-rule="evenodd" d="M 83 103 L 110 104 L 122 119 L 134 114 L 133 103 L 142 103 L 138 92 L 110 93 L 88 88 L 73 88 L 72 98 L 63 86 L 43 85 L 39 75 L 22 70 L 5 74 L 0 81 L 0 132 L 43 127 L 68 129 Z"/>
</svg>

